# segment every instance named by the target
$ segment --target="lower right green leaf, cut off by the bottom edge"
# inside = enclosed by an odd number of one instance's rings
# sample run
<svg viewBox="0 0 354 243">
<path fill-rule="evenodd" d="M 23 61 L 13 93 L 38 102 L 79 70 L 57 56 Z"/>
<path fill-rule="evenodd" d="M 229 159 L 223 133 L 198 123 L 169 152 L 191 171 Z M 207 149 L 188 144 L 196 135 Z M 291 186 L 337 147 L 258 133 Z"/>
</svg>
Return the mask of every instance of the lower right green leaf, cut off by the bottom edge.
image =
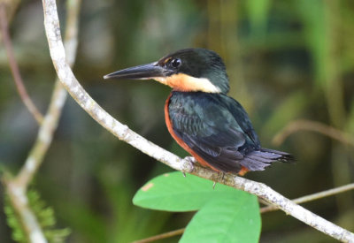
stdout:
<svg viewBox="0 0 354 243">
<path fill-rule="evenodd" d="M 257 197 L 231 194 L 205 204 L 190 221 L 180 242 L 258 242 L 260 231 Z"/>
</svg>

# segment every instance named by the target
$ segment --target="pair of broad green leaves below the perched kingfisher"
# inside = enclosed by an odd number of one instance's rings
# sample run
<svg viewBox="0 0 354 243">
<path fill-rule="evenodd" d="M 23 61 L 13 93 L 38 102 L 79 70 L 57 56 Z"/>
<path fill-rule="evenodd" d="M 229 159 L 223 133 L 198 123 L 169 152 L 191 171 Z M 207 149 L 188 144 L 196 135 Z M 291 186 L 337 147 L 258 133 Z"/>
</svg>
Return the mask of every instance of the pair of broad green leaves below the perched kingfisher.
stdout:
<svg viewBox="0 0 354 243">
<path fill-rule="evenodd" d="M 181 172 L 151 179 L 135 194 L 135 205 L 174 212 L 198 210 L 180 242 L 258 242 L 257 197 Z"/>
</svg>

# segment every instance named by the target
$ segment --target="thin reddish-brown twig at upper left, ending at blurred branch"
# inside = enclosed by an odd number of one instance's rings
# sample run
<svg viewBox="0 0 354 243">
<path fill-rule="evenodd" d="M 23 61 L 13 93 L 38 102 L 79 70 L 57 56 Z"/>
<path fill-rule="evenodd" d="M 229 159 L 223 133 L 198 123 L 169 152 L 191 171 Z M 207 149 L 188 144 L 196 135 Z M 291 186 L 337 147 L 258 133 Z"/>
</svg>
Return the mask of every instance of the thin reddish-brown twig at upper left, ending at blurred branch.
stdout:
<svg viewBox="0 0 354 243">
<path fill-rule="evenodd" d="M 19 96 L 22 102 L 26 105 L 29 112 L 35 118 L 37 123 L 41 125 L 43 116 L 41 112 L 35 107 L 35 103 L 32 102 L 31 98 L 27 94 L 26 87 L 23 84 L 21 75 L 19 74 L 19 65 L 16 62 L 15 56 L 13 54 L 12 41 L 9 34 L 9 27 L 6 17 L 6 5 L 4 3 L 0 4 L 0 26 L 1 34 L 3 35 L 4 47 L 6 49 L 6 54 L 9 59 L 10 69 L 12 71 L 13 80 L 15 81 Z"/>
</svg>

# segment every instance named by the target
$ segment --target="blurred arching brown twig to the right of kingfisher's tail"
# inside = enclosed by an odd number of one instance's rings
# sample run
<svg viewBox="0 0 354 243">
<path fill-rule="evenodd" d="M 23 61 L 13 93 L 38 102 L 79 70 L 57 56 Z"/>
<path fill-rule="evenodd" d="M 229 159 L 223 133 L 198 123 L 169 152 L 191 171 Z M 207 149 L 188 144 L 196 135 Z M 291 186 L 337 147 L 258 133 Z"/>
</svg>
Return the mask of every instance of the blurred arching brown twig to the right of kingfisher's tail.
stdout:
<svg viewBox="0 0 354 243">
<path fill-rule="evenodd" d="M 350 134 L 343 133 L 342 131 L 335 129 L 333 126 L 310 120 L 295 120 L 290 122 L 274 136 L 273 144 L 279 146 L 289 137 L 289 135 L 302 130 L 321 133 L 334 140 L 339 140 L 343 144 L 354 147 L 354 139 L 350 136 Z"/>
</svg>

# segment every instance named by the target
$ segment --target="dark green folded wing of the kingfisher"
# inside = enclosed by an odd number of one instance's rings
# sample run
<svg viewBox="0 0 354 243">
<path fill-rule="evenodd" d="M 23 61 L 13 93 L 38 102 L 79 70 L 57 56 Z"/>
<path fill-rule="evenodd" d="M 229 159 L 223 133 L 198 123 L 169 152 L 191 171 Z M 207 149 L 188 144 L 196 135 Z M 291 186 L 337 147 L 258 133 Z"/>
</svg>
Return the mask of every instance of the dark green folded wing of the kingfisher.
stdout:
<svg viewBox="0 0 354 243">
<path fill-rule="evenodd" d="M 174 133 L 220 171 L 240 171 L 245 153 L 259 147 L 247 114 L 226 95 L 173 92 L 168 110 Z"/>
</svg>

